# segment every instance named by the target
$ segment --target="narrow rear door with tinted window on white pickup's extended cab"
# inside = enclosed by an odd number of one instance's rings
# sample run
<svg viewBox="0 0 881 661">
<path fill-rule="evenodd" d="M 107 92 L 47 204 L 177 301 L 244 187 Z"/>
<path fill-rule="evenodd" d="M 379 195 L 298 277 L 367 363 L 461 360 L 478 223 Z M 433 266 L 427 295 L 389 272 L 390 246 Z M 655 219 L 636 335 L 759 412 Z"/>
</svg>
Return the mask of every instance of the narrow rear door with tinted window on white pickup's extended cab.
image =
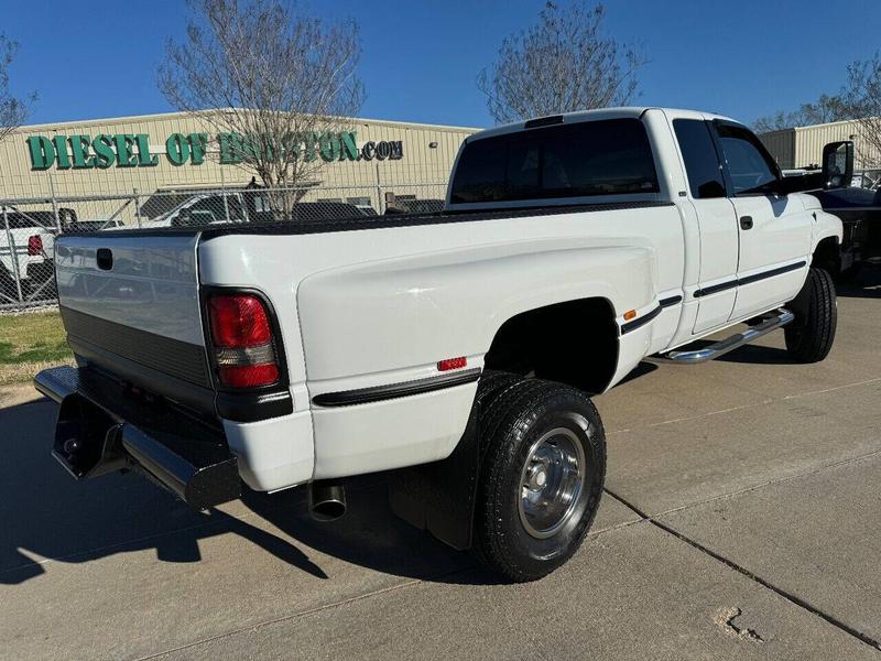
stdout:
<svg viewBox="0 0 881 661">
<path fill-rule="evenodd" d="M 709 124 L 700 119 L 674 119 L 673 130 L 688 175 L 688 199 L 700 230 L 700 271 L 694 333 L 725 324 L 737 294 L 738 230 L 735 207 Z"/>
</svg>

